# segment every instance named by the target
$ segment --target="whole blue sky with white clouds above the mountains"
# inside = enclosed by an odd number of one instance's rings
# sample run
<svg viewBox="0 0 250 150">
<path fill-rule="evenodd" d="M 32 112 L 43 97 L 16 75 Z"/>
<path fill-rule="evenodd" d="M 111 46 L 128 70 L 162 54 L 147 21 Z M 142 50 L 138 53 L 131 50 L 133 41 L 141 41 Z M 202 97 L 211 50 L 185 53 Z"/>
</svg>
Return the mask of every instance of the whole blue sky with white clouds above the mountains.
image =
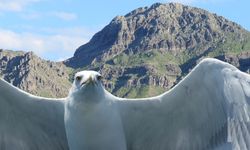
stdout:
<svg viewBox="0 0 250 150">
<path fill-rule="evenodd" d="M 250 31 L 249 0 L 0 0 L 0 49 L 64 60 L 115 16 L 171 1 L 206 9 Z"/>
</svg>

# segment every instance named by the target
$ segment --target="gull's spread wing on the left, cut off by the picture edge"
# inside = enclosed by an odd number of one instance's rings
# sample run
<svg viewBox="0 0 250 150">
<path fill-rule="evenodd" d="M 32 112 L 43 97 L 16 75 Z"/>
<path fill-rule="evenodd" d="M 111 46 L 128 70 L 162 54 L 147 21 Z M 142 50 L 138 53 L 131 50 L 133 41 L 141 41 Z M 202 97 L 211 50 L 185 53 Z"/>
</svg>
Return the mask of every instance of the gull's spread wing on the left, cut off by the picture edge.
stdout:
<svg viewBox="0 0 250 150">
<path fill-rule="evenodd" d="M 68 149 L 64 100 L 36 97 L 0 79 L 0 149 Z"/>
</svg>

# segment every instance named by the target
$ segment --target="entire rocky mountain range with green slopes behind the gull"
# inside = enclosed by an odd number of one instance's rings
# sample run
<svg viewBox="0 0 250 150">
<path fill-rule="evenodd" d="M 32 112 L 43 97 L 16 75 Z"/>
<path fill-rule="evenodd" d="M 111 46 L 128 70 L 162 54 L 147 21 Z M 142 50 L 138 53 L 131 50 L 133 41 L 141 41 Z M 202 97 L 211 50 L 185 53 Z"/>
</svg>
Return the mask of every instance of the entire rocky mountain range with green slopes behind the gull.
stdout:
<svg viewBox="0 0 250 150">
<path fill-rule="evenodd" d="M 153 96 L 173 87 L 204 57 L 250 72 L 250 33 L 206 10 L 156 3 L 115 17 L 63 62 L 0 51 L 0 74 L 25 91 L 64 97 L 74 72 L 100 71 L 122 97 Z"/>
</svg>

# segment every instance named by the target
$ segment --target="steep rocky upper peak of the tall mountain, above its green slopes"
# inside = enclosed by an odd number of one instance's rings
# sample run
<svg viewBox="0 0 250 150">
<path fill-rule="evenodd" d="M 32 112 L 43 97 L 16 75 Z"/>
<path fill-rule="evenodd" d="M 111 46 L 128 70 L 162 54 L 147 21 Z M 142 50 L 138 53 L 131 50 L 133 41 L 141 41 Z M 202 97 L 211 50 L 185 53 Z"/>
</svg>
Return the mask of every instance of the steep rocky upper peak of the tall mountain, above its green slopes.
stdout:
<svg viewBox="0 0 250 150">
<path fill-rule="evenodd" d="M 105 62 L 122 52 L 152 49 L 177 54 L 205 47 L 199 50 L 201 54 L 217 46 L 211 43 L 226 41 L 229 35 L 244 40 L 246 33 L 236 23 L 206 10 L 179 3 L 156 3 L 115 17 L 65 64 L 84 67 Z"/>
</svg>

